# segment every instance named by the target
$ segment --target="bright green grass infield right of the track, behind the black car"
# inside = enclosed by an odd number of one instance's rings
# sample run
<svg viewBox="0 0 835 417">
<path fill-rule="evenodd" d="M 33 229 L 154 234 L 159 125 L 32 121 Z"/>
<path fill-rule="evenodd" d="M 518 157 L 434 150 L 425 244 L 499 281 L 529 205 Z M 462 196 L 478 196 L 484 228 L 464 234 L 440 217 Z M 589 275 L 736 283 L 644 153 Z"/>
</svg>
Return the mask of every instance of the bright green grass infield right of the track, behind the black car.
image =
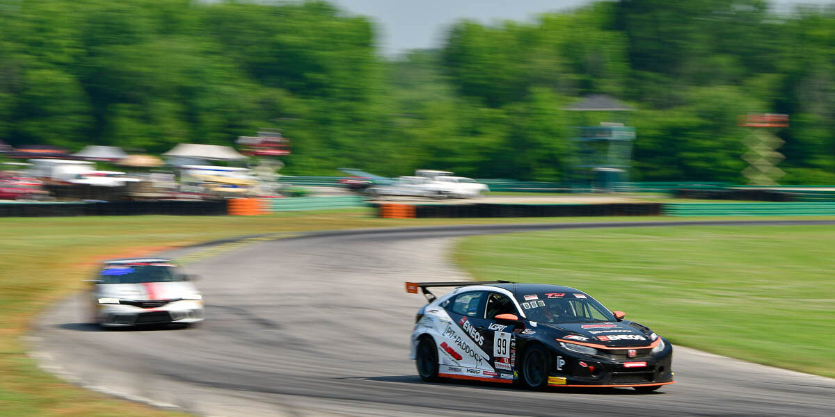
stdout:
<svg viewBox="0 0 835 417">
<path fill-rule="evenodd" d="M 835 226 L 479 236 L 456 259 L 477 279 L 584 290 L 674 344 L 835 377 Z"/>
</svg>

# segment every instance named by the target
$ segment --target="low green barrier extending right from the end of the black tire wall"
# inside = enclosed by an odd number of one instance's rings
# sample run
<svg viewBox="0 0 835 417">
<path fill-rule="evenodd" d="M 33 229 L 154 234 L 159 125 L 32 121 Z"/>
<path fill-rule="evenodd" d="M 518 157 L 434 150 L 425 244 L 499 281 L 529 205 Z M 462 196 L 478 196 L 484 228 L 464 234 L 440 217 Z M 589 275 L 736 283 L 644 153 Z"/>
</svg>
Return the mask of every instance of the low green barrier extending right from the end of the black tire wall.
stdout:
<svg viewBox="0 0 835 417">
<path fill-rule="evenodd" d="M 832 216 L 835 202 L 665 203 L 668 216 Z"/>
</svg>

